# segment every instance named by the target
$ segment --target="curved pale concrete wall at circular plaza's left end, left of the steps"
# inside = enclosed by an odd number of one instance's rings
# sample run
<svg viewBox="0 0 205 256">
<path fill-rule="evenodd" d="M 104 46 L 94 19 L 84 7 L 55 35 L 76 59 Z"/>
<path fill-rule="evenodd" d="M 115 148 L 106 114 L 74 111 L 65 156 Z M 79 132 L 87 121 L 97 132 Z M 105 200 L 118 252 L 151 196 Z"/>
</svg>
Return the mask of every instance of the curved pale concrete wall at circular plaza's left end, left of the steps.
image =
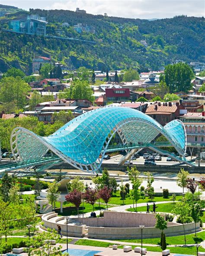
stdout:
<svg viewBox="0 0 205 256">
<path fill-rule="evenodd" d="M 48 214 L 44 214 L 42 216 L 42 221 L 44 223 L 44 227 L 45 228 L 51 228 L 51 229 L 55 229 L 58 231 L 58 223 L 56 223 L 56 220 L 52 220 L 53 217 L 57 217 L 58 214 L 55 212 L 51 212 Z M 58 220 L 63 220 L 64 217 L 60 217 L 58 218 Z M 50 220 L 50 221 L 49 221 Z M 65 220 L 66 222 L 66 220 Z M 67 230 L 68 230 L 68 236 L 70 237 L 82 237 L 83 234 L 85 233 L 85 227 L 83 226 L 75 226 L 75 225 L 66 225 L 66 224 L 59 224 L 61 226 L 61 233 L 62 235 L 66 236 L 67 231 L 66 231 L 66 226 L 68 226 Z"/>
</svg>

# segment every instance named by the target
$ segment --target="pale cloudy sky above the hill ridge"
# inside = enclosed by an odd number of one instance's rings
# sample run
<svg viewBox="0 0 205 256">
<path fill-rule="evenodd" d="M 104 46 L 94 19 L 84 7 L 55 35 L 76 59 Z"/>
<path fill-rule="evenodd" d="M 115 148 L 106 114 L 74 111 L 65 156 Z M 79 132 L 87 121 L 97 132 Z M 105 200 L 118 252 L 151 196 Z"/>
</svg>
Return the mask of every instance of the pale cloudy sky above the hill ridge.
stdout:
<svg viewBox="0 0 205 256">
<path fill-rule="evenodd" d="M 205 0 L 0 0 L 24 10 L 76 10 L 139 19 L 172 18 L 176 15 L 205 16 Z"/>
</svg>

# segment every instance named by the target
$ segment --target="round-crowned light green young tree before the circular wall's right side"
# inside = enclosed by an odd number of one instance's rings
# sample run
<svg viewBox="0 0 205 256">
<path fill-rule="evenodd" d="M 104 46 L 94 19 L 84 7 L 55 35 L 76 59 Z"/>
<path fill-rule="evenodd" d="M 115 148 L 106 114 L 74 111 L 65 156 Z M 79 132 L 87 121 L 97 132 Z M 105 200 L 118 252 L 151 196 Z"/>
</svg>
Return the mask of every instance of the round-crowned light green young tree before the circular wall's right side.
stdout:
<svg viewBox="0 0 205 256">
<path fill-rule="evenodd" d="M 184 224 L 186 223 L 187 220 L 189 220 L 189 215 L 190 215 L 189 204 L 186 204 L 186 202 L 184 202 L 184 201 L 176 203 L 176 207 L 173 209 L 172 213 L 175 216 L 179 216 L 180 221 L 183 224 L 184 242 L 185 242 L 185 245 L 186 245 L 186 233 L 185 233 Z"/>
</svg>

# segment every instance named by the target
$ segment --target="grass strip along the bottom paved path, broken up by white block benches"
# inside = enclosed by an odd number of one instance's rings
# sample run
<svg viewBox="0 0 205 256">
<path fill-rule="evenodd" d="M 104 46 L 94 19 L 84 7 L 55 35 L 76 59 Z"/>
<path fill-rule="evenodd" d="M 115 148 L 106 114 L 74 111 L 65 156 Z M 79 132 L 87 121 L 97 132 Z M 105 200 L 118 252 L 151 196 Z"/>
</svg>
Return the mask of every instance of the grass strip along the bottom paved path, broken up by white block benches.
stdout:
<svg viewBox="0 0 205 256">
<path fill-rule="evenodd" d="M 86 246 L 96 246 L 96 247 L 109 247 L 110 245 L 114 243 L 107 243 L 107 242 L 101 242 L 101 241 L 95 241 L 95 240 L 84 240 L 80 239 L 75 243 L 77 245 L 86 245 Z M 132 246 L 132 249 L 134 250 L 136 246 Z M 143 246 L 145 247 L 145 246 Z M 119 245 L 118 248 L 123 248 L 123 245 Z M 159 246 L 146 246 L 147 251 L 151 252 L 161 252 L 162 249 Z M 190 246 L 190 247 L 167 247 L 167 249 L 170 249 L 170 253 L 180 253 L 180 254 L 192 254 L 196 255 L 196 247 Z M 199 252 L 203 252 L 204 249 L 199 247 Z"/>
</svg>

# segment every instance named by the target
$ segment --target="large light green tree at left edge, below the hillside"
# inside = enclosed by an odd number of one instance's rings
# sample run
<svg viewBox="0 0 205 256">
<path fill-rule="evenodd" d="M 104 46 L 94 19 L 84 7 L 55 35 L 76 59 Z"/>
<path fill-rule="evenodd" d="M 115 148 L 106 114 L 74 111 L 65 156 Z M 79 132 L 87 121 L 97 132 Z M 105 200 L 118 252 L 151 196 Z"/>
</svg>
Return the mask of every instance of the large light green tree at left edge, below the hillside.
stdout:
<svg viewBox="0 0 205 256">
<path fill-rule="evenodd" d="M 5 77 L 0 82 L 0 101 L 22 109 L 26 105 L 26 96 L 30 89 L 29 84 L 20 77 Z"/>
</svg>

